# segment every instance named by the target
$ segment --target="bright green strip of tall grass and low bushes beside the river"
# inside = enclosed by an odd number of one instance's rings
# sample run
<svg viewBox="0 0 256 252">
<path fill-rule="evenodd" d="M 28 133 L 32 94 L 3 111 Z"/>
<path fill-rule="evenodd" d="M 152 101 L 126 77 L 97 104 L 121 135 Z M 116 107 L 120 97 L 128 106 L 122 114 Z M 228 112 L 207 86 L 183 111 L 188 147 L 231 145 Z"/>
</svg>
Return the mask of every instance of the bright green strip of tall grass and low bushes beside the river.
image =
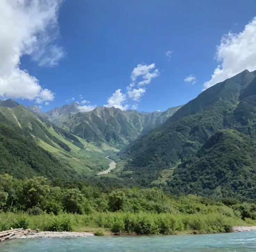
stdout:
<svg viewBox="0 0 256 252">
<path fill-rule="evenodd" d="M 60 213 L 29 216 L 25 213 L 0 213 L 0 231 L 11 227 L 37 228 L 40 231 L 90 231 L 91 233 L 190 234 L 228 232 L 233 226 L 255 225 L 255 220 L 241 220 L 222 214 L 182 213 Z"/>
</svg>

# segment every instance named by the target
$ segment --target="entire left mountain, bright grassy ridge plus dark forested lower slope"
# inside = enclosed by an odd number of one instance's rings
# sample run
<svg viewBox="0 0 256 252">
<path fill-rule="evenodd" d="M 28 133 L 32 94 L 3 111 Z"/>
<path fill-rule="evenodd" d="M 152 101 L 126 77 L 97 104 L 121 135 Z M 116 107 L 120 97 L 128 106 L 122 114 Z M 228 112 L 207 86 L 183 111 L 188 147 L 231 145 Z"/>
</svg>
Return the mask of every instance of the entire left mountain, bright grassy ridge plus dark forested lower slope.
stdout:
<svg viewBox="0 0 256 252">
<path fill-rule="evenodd" d="M 1 106 L 0 114 L 0 173 L 18 178 L 90 177 L 106 170 L 110 161 L 104 157 L 117 151 L 108 145 L 97 148 L 23 105 Z"/>
</svg>

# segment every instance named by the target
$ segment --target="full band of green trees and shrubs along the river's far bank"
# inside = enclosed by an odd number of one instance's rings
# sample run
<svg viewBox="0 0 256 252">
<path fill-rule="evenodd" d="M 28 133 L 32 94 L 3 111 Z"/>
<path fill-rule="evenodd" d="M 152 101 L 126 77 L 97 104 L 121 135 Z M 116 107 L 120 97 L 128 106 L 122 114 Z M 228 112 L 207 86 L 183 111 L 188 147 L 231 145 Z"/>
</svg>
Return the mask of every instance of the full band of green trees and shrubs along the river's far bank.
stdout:
<svg viewBox="0 0 256 252">
<path fill-rule="evenodd" d="M 0 175 L 0 231 L 22 226 L 52 231 L 216 233 L 230 231 L 233 225 L 253 224 L 256 218 L 255 204 L 230 198 L 222 203 L 195 195 L 166 195 L 157 188 L 55 184 L 43 177 L 18 180 Z"/>
</svg>

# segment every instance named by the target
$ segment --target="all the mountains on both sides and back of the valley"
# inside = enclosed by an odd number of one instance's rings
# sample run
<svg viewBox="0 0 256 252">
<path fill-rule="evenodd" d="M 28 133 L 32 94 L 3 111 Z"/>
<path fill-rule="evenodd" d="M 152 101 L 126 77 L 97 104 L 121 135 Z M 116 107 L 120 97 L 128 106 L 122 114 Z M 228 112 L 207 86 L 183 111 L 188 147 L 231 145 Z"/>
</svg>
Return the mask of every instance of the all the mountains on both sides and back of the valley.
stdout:
<svg viewBox="0 0 256 252">
<path fill-rule="evenodd" d="M 217 83 L 165 112 L 78 103 L 43 113 L 0 101 L 0 172 L 65 180 L 95 177 L 173 194 L 256 201 L 256 71 Z M 120 150 L 120 151 L 119 151 Z"/>
</svg>

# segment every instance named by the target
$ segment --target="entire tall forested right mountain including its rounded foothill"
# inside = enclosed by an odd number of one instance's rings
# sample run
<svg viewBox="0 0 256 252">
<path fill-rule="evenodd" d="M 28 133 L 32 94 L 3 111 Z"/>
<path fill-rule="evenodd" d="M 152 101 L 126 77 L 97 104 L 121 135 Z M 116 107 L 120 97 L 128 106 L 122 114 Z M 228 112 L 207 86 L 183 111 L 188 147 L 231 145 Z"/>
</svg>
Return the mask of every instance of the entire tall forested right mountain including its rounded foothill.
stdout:
<svg viewBox="0 0 256 252">
<path fill-rule="evenodd" d="M 122 177 L 175 193 L 255 199 L 255 75 L 245 70 L 208 88 L 125 147 L 116 158 Z"/>
</svg>

